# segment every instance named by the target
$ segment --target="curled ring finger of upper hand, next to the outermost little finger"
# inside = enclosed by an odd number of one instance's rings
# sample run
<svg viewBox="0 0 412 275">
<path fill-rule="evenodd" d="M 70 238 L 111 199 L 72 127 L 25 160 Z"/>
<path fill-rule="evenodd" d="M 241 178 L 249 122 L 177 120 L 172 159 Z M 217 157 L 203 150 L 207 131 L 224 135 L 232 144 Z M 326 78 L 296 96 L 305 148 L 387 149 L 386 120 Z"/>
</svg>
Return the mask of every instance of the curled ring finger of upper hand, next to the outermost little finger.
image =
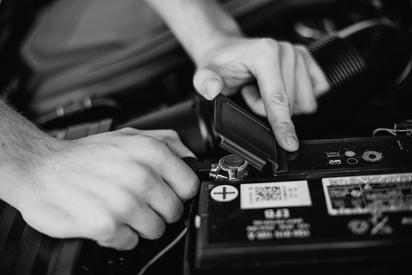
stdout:
<svg viewBox="0 0 412 275">
<path fill-rule="evenodd" d="M 314 113 L 317 109 L 316 98 L 312 89 L 312 82 L 305 65 L 304 58 L 297 54 L 296 66 L 296 100 L 294 114 Z"/>
</svg>

